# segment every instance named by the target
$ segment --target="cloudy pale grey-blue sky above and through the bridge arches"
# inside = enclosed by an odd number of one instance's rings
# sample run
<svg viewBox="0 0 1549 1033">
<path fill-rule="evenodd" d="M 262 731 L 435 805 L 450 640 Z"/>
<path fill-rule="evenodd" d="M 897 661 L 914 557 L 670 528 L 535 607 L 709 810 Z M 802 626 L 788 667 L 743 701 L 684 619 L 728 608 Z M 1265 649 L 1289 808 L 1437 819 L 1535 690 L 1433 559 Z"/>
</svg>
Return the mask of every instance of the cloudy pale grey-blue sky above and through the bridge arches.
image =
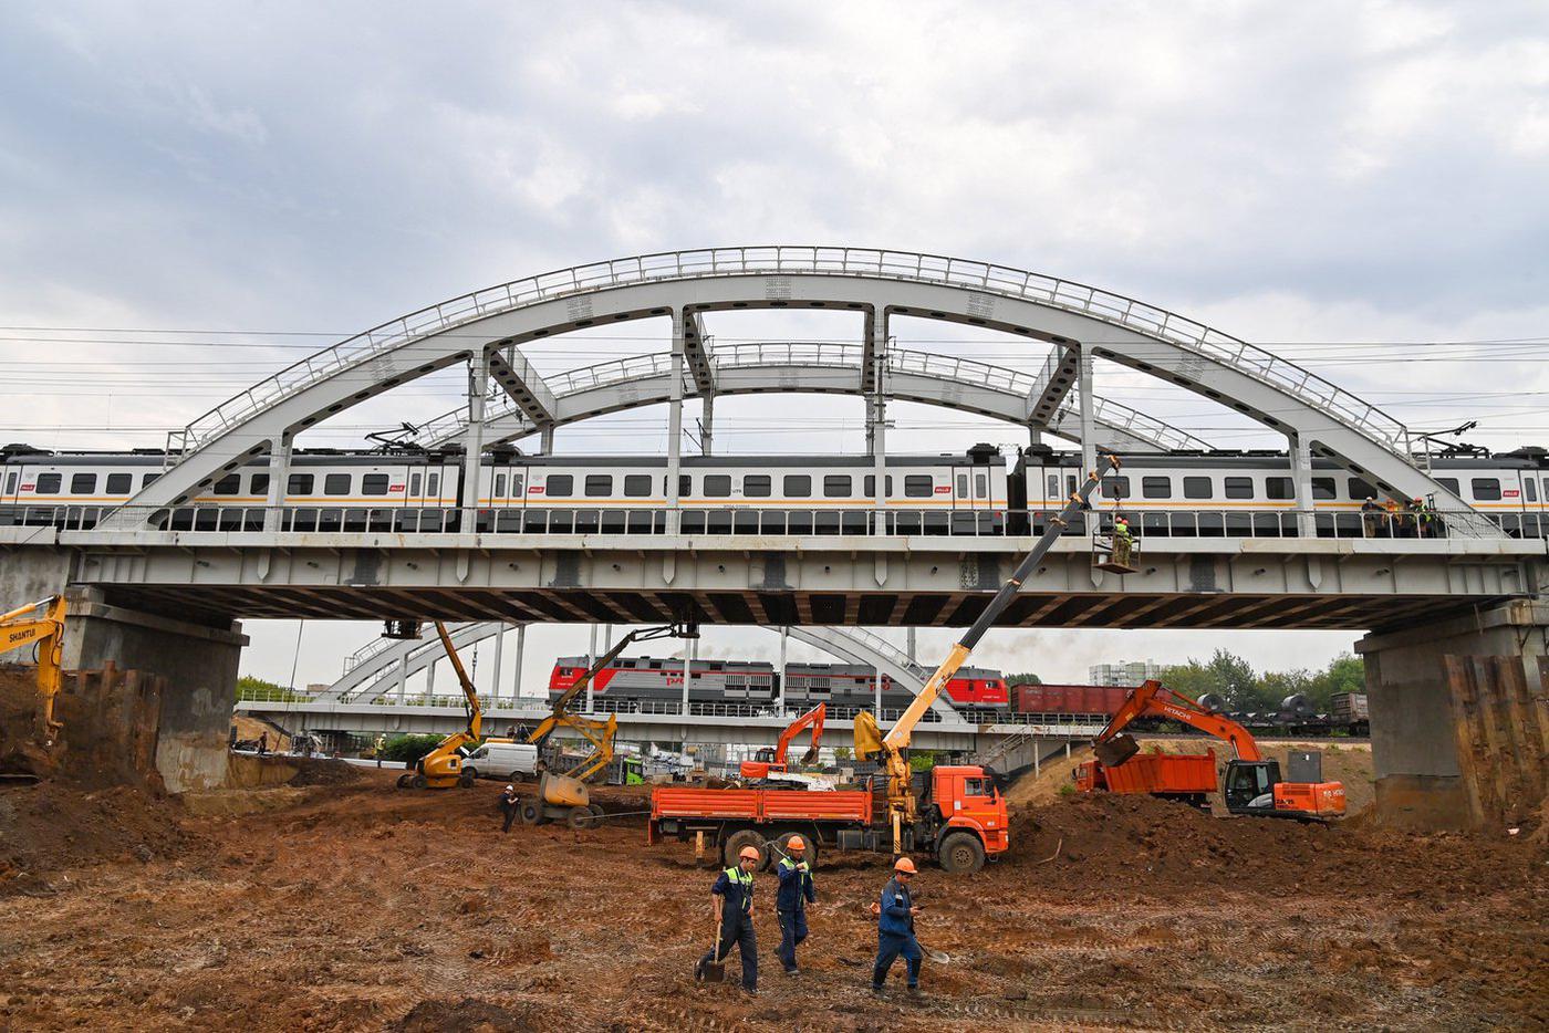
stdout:
<svg viewBox="0 0 1549 1033">
<path fill-rule="evenodd" d="M 1549 443 L 1544 3 L 25 3 L 0 6 L 0 438 L 160 444 L 246 384 L 424 304 L 711 245 L 888 246 L 1146 299 L 1428 431 Z M 661 325 L 534 348 L 545 373 Z M 900 321 L 900 345 L 1035 367 Z M 723 316 L 739 338 L 858 322 Z M 457 404 L 455 376 L 310 443 Z M 1222 446 L 1193 395 L 1103 393 Z M 389 404 L 390 400 L 390 404 Z M 728 400 L 719 451 L 860 451 L 861 404 Z M 1019 443 L 897 406 L 895 448 Z M 663 451 L 665 414 L 559 435 Z M 290 680 L 294 624 L 245 669 Z M 297 681 L 372 627 L 308 624 Z M 939 638 L 939 637 L 937 637 Z M 1084 678 L 1227 644 L 1321 663 L 1355 633 L 996 632 L 982 658 Z M 768 640 L 768 641 L 765 641 Z M 773 638 L 716 632 L 722 655 Z M 929 640 L 934 643 L 936 640 Z M 528 677 L 584 632 L 544 629 Z M 488 664 L 485 664 L 488 668 Z"/>
</svg>

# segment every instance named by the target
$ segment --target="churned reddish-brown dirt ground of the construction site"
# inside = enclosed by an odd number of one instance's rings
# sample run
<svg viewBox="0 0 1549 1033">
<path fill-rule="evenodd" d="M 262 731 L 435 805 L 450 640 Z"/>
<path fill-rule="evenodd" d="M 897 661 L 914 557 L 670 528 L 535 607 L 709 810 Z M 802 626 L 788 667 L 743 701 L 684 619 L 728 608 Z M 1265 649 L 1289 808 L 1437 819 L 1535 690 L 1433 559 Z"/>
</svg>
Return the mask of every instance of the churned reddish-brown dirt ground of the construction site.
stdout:
<svg viewBox="0 0 1549 1033">
<path fill-rule="evenodd" d="M 397 771 L 191 816 L 133 790 L 0 790 L 0 1028 L 1544 1028 L 1549 850 L 1219 819 L 1152 799 L 1018 808 L 982 873 L 917 880 L 928 996 L 867 993 L 888 864 L 818 869 L 804 974 L 696 985 L 709 866 L 643 818 L 500 833 L 499 785 Z M 313 779 L 322 781 L 322 779 Z M 528 787 L 524 787 L 528 788 Z M 279 798 L 276 798 L 279 799 Z M 643 790 L 606 793 L 617 812 Z M 243 810 L 232 807 L 231 810 Z M 43 832 L 48 827 L 51 832 Z M 17 847 L 31 839 L 31 847 Z"/>
</svg>

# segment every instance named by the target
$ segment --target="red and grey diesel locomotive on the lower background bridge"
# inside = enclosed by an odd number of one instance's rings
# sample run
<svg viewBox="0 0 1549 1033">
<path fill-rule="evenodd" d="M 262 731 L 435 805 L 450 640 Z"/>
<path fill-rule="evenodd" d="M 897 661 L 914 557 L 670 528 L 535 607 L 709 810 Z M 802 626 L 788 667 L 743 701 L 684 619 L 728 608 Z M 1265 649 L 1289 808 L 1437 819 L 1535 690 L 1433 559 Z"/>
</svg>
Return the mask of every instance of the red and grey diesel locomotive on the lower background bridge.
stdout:
<svg viewBox="0 0 1549 1033">
<path fill-rule="evenodd" d="M 548 692 L 559 695 L 587 671 L 586 657 L 561 657 L 548 675 Z M 875 703 L 875 669 L 864 664 L 788 663 L 785 702 L 793 706 L 871 709 Z M 593 700 L 604 709 L 627 709 L 620 703 L 644 700 L 682 702 L 683 661 L 654 657 L 620 657 L 592 678 Z M 691 660 L 689 703 L 773 703 L 781 695 L 774 664 L 756 660 Z M 946 683 L 946 695 L 960 711 L 999 709 L 1010 705 L 999 671 L 962 668 Z M 903 709 L 914 694 L 881 678 L 884 709 Z"/>
</svg>

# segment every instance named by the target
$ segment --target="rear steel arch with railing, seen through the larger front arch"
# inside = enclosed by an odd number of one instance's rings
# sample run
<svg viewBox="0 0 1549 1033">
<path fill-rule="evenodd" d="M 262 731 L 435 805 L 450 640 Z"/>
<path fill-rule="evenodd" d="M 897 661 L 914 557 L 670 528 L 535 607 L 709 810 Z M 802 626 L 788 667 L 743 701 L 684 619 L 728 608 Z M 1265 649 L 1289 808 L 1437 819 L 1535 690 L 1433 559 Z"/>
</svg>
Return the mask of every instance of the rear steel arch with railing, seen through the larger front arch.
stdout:
<svg viewBox="0 0 1549 1033">
<path fill-rule="evenodd" d="M 722 396 L 776 392 L 866 395 L 863 362 L 866 347 L 843 341 L 768 341 L 733 345 L 706 345 L 708 381 L 696 381 L 680 370 L 685 393 Z M 1005 365 L 990 365 L 932 352 L 889 347 L 886 350 L 883 393 L 888 398 L 973 412 L 1021 426 L 1033 421 L 1032 401 L 1036 378 Z M 485 448 L 538 434 L 545 426 L 663 404 L 672 400 L 672 353 L 635 355 L 598 362 L 558 376 L 544 378 L 555 400 L 548 421 L 533 420 L 505 390 L 485 403 Z M 708 387 L 708 390 L 706 390 Z M 1053 417 L 1044 421 L 1049 434 L 1078 441 L 1081 414 L 1075 392 L 1067 393 Z M 1117 451 L 1208 449 L 1187 431 L 1148 417 L 1108 398 L 1094 398 L 1097 444 Z M 423 444 L 449 444 L 468 434 L 466 406 L 429 420 L 420 427 Z"/>
</svg>

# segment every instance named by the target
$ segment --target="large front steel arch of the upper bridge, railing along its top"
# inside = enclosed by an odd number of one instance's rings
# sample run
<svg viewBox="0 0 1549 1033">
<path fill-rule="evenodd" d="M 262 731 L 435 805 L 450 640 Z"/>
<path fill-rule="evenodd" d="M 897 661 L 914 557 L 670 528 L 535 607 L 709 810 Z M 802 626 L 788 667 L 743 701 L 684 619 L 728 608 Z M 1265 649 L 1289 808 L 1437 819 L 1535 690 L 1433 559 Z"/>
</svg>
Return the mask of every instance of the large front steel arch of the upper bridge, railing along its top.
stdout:
<svg viewBox="0 0 1549 1033">
<path fill-rule="evenodd" d="M 1402 496 L 1467 510 L 1410 458 L 1408 431 L 1310 370 L 1163 308 L 1050 276 L 906 251 L 740 246 L 615 259 L 513 280 L 324 348 L 194 420 L 183 457 L 104 527 L 186 500 L 274 441 L 489 347 L 672 311 L 833 308 L 1083 345 L 1222 401 Z"/>
</svg>

